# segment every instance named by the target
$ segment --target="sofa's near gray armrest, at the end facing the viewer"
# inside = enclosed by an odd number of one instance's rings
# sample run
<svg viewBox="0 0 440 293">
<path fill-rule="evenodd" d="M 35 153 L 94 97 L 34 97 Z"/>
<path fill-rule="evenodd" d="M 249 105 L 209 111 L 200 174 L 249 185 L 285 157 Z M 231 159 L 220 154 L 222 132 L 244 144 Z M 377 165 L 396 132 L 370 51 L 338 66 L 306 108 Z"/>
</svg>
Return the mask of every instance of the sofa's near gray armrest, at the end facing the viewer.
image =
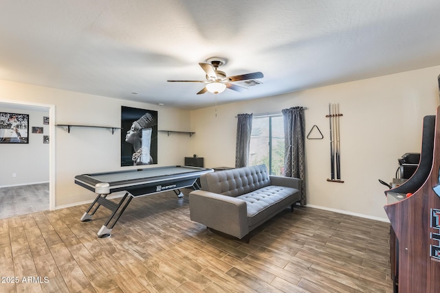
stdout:
<svg viewBox="0 0 440 293">
<path fill-rule="evenodd" d="M 192 221 L 240 239 L 249 233 L 245 201 L 203 190 L 191 191 L 189 200 Z"/>
</svg>

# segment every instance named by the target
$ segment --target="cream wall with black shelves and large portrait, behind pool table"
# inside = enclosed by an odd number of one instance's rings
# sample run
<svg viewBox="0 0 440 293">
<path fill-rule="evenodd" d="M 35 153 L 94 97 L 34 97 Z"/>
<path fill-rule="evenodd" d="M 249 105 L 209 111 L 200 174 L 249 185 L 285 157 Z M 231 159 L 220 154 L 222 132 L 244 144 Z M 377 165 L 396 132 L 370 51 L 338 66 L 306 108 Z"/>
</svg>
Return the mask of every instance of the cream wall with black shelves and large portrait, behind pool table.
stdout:
<svg viewBox="0 0 440 293">
<path fill-rule="evenodd" d="M 129 106 L 157 110 L 159 130 L 186 131 L 190 128 L 188 110 L 155 104 L 129 102 L 4 80 L 0 80 L 0 97 L 8 98 L 0 99 L 0 102 L 54 105 L 55 114 L 54 117 L 50 117 L 50 124 L 120 127 L 121 106 Z M 51 170 L 54 176 L 51 189 L 54 192 L 56 207 L 67 207 L 95 198 L 91 191 L 74 184 L 76 175 L 130 168 L 120 167 L 120 131 L 126 132 L 116 130 L 115 134 L 111 134 L 109 130 L 102 128 L 72 128 L 71 132 L 67 133 L 65 128 L 54 127 L 54 133 L 50 134 L 50 144 L 54 144 L 50 159 L 54 166 Z M 192 138 L 189 135 L 170 134 L 168 137 L 166 132 L 159 132 L 158 164 L 148 167 L 183 165 L 184 156 L 193 154 L 190 150 L 190 139 Z M 28 166 L 30 165 L 32 163 L 28 163 Z M 10 169 L 12 166 L 4 167 Z"/>
</svg>

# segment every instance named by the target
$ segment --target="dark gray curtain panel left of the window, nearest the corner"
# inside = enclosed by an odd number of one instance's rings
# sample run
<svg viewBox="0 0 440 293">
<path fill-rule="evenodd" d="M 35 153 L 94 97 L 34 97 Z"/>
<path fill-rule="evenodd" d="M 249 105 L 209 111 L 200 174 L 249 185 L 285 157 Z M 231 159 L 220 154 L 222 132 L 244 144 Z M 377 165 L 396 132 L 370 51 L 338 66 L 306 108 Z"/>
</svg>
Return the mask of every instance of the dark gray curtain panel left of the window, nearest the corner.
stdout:
<svg viewBox="0 0 440 293">
<path fill-rule="evenodd" d="M 239 114 L 236 124 L 235 167 L 249 164 L 249 143 L 252 132 L 252 114 Z"/>
</svg>

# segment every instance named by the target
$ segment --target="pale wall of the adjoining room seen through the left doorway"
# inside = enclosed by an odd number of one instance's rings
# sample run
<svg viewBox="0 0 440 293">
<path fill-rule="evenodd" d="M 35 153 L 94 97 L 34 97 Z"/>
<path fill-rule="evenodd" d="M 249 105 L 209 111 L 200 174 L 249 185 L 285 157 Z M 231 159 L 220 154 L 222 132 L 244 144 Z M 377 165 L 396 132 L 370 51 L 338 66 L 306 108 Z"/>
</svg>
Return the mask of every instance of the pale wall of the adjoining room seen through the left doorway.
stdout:
<svg viewBox="0 0 440 293">
<path fill-rule="evenodd" d="M 0 187 L 49 182 L 49 144 L 43 143 L 43 135 L 49 135 L 49 126 L 43 117 L 49 116 L 47 108 L 10 108 L 0 103 L 0 112 L 29 115 L 29 143 L 0 144 Z M 43 134 L 32 133 L 32 126 L 43 128 Z M 12 173 L 16 176 L 12 177 Z"/>
</svg>

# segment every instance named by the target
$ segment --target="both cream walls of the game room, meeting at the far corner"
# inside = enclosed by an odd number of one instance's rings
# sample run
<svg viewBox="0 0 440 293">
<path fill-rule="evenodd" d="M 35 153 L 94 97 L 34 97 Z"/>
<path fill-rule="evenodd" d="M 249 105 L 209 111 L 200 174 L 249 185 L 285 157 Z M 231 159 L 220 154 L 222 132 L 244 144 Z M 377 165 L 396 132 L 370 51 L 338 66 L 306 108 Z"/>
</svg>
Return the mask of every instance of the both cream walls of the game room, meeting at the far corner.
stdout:
<svg viewBox="0 0 440 293">
<path fill-rule="evenodd" d="M 206 167 L 234 166 L 237 114 L 307 106 L 306 132 L 316 124 L 325 136 L 322 140 L 306 140 L 308 204 L 386 219 L 386 187 L 377 179 L 391 180 L 397 158 L 406 152 L 420 151 L 423 116 L 434 115 L 439 105 L 439 73 L 440 67 L 431 67 L 221 105 L 217 107 L 217 117 L 213 107 L 179 110 L 1 80 L 0 97 L 7 99 L 0 102 L 49 105 L 54 109 L 51 124 L 119 127 L 121 106 L 157 110 L 159 129 L 190 130 L 196 134 L 168 137 L 166 132 L 159 132 L 159 164 L 154 166 L 183 164 L 184 156 L 197 154 L 205 158 Z M 258 91 L 258 86 L 250 91 Z M 326 180 L 330 176 L 329 121 L 325 117 L 329 103 L 339 103 L 344 115 L 340 119 L 344 183 Z M 73 128 L 67 133 L 64 128 L 51 127 L 51 189 L 56 207 L 95 197 L 91 191 L 75 185 L 74 176 L 129 168 L 120 167 L 121 130 L 111 134 L 100 128 Z M 2 164 L 3 167 L 10 169 L 11 163 Z M 6 178 L 12 176 L 6 174 Z M 4 184 L 12 185 L 12 181 Z"/>
</svg>

